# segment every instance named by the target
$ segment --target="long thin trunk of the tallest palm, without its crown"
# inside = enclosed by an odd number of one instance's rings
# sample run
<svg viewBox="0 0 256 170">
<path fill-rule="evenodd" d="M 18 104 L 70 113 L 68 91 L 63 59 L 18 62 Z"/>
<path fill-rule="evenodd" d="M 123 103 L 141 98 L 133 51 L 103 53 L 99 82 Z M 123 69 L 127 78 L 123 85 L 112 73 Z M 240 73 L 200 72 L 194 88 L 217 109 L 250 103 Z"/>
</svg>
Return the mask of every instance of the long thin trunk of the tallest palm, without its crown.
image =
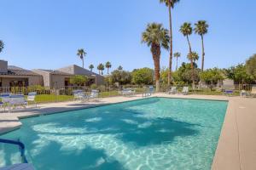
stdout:
<svg viewBox="0 0 256 170">
<path fill-rule="evenodd" d="M 172 80 L 172 7 L 169 4 L 169 24 L 170 24 L 170 57 L 169 57 L 169 71 L 168 71 L 168 88 L 170 88 Z"/>
</svg>

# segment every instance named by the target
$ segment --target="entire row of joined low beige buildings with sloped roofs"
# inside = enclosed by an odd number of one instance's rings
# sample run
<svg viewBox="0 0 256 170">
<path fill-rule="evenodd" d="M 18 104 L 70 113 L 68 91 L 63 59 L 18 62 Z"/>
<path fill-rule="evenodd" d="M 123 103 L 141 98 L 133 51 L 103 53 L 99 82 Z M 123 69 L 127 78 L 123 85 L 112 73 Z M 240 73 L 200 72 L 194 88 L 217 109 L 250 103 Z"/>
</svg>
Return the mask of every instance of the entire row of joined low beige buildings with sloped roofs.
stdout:
<svg viewBox="0 0 256 170">
<path fill-rule="evenodd" d="M 0 60 L 0 88 L 27 87 L 40 85 L 48 88 L 64 88 L 73 86 L 70 78 L 75 75 L 84 75 L 89 78 L 86 85 L 95 83 L 104 84 L 104 77 L 88 71 L 78 65 L 70 65 L 58 70 L 35 69 L 27 71 L 17 66 L 8 65 L 7 61 Z"/>
</svg>

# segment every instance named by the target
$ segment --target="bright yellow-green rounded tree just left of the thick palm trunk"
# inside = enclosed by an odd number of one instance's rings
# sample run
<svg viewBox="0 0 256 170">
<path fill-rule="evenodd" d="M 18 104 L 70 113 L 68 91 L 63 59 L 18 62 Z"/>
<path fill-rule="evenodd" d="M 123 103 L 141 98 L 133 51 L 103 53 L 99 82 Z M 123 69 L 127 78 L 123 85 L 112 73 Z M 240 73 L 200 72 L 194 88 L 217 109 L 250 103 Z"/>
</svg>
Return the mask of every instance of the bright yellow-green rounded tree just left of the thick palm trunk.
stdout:
<svg viewBox="0 0 256 170">
<path fill-rule="evenodd" d="M 132 83 L 139 85 L 150 85 L 154 82 L 154 71 L 147 67 L 136 69 L 131 72 Z"/>
</svg>

